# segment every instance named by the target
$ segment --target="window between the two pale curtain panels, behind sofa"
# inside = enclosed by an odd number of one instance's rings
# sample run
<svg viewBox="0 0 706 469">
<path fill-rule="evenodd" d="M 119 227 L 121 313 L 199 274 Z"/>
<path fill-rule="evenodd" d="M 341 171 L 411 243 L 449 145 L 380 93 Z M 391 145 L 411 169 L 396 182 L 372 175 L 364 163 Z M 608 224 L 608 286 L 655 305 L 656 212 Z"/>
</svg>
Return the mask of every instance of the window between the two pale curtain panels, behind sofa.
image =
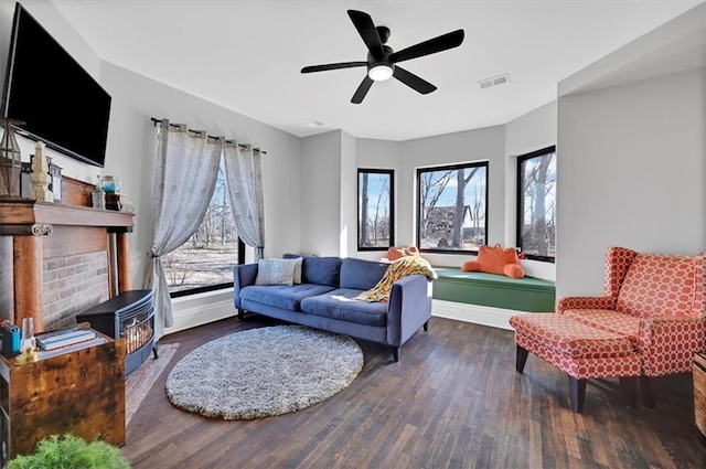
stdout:
<svg viewBox="0 0 706 469">
<path fill-rule="evenodd" d="M 223 171 L 222 163 L 199 230 L 162 257 L 172 298 L 232 287 L 233 267 L 245 263 L 245 244 L 235 230 Z"/>
</svg>

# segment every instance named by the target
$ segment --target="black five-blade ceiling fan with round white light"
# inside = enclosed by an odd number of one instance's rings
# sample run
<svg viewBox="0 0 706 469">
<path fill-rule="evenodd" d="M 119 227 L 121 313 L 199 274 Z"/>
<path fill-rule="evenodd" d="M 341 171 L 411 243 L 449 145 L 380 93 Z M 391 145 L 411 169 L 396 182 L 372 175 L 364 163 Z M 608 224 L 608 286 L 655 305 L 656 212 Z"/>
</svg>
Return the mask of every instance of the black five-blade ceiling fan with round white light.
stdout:
<svg viewBox="0 0 706 469">
<path fill-rule="evenodd" d="M 367 90 L 373 86 L 373 82 L 382 82 L 393 76 L 422 95 L 434 92 L 437 89 L 436 86 L 414 73 L 407 72 L 397 65 L 397 63 L 458 47 L 463 42 L 463 30 L 457 30 L 394 52 L 392 47 L 385 45 L 387 39 L 389 39 L 388 28 L 376 28 L 371 15 L 363 11 L 349 10 L 349 17 L 370 51 L 367 61 L 311 65 L 303 67 L 301 73 L 366 66 L 367 75 L 365 75 L 365 78 L 363 78 L 363 82 L 361 82 L 355 90 L 351 99 L 353 104 L 361 104 L 363 102 Z"/>
</svg>

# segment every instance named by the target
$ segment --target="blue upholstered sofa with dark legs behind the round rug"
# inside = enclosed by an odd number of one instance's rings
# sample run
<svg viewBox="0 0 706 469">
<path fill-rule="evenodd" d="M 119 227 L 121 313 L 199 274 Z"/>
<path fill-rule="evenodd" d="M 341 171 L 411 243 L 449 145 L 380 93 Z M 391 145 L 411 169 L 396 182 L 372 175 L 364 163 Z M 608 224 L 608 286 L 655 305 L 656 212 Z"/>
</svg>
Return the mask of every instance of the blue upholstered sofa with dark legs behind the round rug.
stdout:
<svg viewBox="0 0 706 469">
<path fill-rule="evenodd" d="M 373 288 L 389 264 L 356 258 L 303 256 L 299 285 L 255 285 L 257 264 L 234 269 L 238 318 L 256 312 L 301 326 L 389 345 L 395 362 L 399 348 L 420 327 L 428 330 L 431 289 L 424 275 L 393 284 L 387 302 L 354 299 Z"/>
</svg>

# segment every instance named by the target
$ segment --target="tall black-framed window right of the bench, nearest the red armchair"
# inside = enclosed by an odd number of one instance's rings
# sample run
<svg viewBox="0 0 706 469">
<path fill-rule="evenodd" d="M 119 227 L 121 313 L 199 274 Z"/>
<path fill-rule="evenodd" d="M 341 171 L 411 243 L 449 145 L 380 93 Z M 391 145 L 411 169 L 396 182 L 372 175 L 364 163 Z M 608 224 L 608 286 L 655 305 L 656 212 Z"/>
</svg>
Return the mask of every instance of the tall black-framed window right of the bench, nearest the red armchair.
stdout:
<svg viewBox="0 0 706 469">
<path fill-rule="evenodd" d="M 517 247 L 528 259 L 556 255 L 556 147 L 517 158 Z"/>
</svg>

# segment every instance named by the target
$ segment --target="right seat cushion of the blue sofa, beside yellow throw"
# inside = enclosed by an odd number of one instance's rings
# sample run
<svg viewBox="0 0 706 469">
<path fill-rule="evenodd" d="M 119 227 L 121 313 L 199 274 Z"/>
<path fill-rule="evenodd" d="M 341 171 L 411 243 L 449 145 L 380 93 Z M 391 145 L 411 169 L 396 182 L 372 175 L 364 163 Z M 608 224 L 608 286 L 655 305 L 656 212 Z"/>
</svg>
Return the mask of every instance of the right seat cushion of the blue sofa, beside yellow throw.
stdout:
<svg viewBox="0 0 706 469">
<path fill-rule="evenodd" d="M 314 316 L 339 319 L 359 324 L 385 327 L 387 305 L 356 300 L 361 290 L 339 288 L 301 301 L 301 310 Z"/>
</svg>

